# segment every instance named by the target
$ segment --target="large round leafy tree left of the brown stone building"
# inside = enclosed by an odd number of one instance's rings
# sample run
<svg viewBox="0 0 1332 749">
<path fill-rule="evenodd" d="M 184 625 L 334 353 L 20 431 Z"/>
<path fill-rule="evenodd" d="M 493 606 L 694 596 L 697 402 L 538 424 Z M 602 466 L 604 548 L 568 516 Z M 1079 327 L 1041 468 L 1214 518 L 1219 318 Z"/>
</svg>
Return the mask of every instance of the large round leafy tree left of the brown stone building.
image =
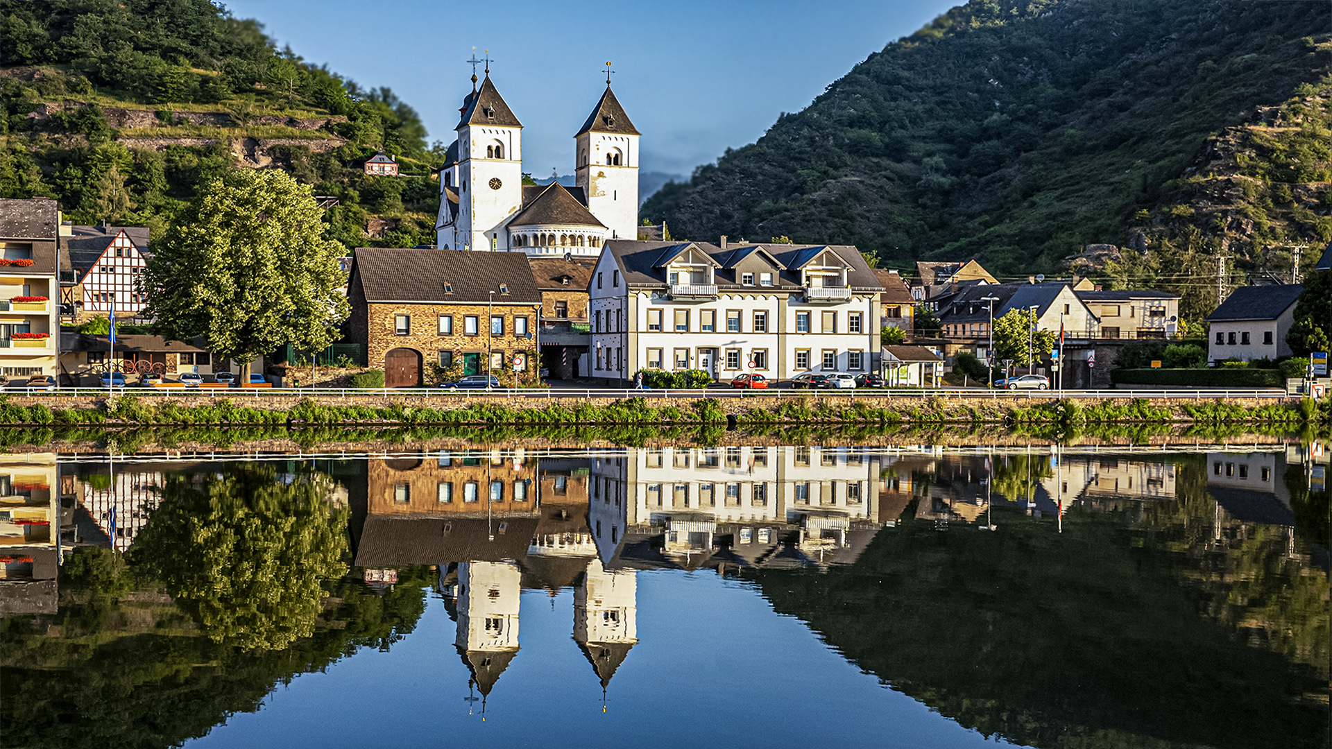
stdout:
<svg viewBox="0 0 1332 749">
<path fill-rule="evenodd" d="M 292 344 L 321 351 L 348 316 L 341 244 L 324 239 L 309 185 L 285 172 L 230 169 L 157 243 L 145 315 L 170 339 L 249 363 Z"/>
</svg>

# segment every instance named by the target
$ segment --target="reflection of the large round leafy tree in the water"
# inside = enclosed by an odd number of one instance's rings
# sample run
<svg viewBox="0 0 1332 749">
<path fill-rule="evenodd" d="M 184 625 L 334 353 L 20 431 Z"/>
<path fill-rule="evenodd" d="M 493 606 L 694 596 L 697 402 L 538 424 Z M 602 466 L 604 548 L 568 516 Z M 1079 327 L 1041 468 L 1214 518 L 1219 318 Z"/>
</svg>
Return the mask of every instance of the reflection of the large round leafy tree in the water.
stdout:
<svg viewBox="0 0 1332 749">
<path fill-rule="evenodd" d="M 321 582 L 346 572 L 346 510 L 326 496 L 325 481 L 286 485 L 268 466 L 229 466 L 197 485 L 176 477 L 132 561 L 213 641 L 285 648 L 310 634 Z"/>
</svg>

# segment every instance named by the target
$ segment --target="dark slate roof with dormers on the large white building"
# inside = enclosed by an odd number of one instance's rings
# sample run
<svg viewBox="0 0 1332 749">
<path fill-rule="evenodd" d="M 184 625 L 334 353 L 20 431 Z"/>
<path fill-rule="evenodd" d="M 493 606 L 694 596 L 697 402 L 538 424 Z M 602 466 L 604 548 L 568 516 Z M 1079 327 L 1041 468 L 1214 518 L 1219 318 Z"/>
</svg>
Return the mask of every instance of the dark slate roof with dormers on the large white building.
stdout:
<svg viewBox="0 0 1332 749">
<path fill-rule="evenodd" d="M 860 252 L 852 245 L 767 244 L 722 249 L 707 243 L 606 240 L 605 247 L 611 253 L 611 257 L 615 259 L 615 263 L 619 265 L 619 273 L 625 277 L 625 283 L 629 287 L 666 285 L 663 265 L 690 247 L 695 247 L 717 264 L 717 285 L 722 288 L 794 291 L 801 288 L 801 267 L 825 249 L 830 249 L 850 265 L 851 271 L 847 273 L 847 283 L 852 289 L 866 292 L 883 291 L 878 279 L 874 277 L 874 271 L 870 269 L 864 259 L 860 257 Z M 765 252 L 786 268 L 785 271 L 774 269 L 777 275 L 773 279 L 773 287 L 747 287 L 739 284 L 739 279 L 735 277 L 737 271 L 734 269 L 734 264 L 751 255 L 741 252 L 747 247 L 762 247 Z"/>
</svg>

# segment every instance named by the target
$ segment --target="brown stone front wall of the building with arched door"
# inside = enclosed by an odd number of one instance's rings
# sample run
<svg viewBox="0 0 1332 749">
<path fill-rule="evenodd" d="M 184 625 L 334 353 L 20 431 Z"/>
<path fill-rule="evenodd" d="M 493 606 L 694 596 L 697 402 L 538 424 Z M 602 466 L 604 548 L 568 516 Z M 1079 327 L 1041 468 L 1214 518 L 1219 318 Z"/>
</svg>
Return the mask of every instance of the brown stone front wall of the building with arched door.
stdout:
<svg viewBox="0 0 1332 749">
<path fill-rule="evenodd" d="M 430 382 L 430 365 L 440 361 L 441 351 L 450 351 L 457 361 L 464 353 L 480 353 L 482 369 L 485 368 L 485 355 L 489 348 L 493 353 L 503 353 L 507 361 L 514 353 L 527 353 L 529 372 L 534 368 L 537 340 L 535 337 L 515 337 L 513 335 L 514 319 L 526 317 L 527 331 L 535 336 L 537 309 L 531 307 L 494 305 L 493 313 L 505 319 L 505 333 L 492 337 L 490 308 L 485 304 L 368 304 L 368 341 L 365 347 L 366 364 L 374 369 L 384 368 L 384 355 L 394 348 L 409 348 L 421 353 L 422 377 Z M 396 333 L 394 317 L 409 315 L 412 317 L 412 332 L 406 336 Z M 440 335 L 440 316 L 453 316 L 453 335 Z M 464 319 L 469 315 L 477 317 L 478 328 L 476 336 L 464 335 Z"/>
</svg>

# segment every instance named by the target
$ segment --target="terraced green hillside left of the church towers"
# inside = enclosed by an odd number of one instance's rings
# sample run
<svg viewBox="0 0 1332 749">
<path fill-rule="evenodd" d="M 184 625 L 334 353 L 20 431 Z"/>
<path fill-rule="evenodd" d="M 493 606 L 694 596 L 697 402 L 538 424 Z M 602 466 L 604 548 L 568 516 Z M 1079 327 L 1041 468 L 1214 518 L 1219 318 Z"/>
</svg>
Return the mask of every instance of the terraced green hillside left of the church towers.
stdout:
<svg viewBox="0 0 1332 749">
<path fill-rule="evenodd" d="M 417 113 L 254 20 L 208 0 L 0 0 L 0 197 L 161 229 L 221 171 L 280 167 L 337 199 L 348 247 L 434 241 L 442 153 Z M 378 149 L 408 176 L 364 176 Z"/>
</svg>

